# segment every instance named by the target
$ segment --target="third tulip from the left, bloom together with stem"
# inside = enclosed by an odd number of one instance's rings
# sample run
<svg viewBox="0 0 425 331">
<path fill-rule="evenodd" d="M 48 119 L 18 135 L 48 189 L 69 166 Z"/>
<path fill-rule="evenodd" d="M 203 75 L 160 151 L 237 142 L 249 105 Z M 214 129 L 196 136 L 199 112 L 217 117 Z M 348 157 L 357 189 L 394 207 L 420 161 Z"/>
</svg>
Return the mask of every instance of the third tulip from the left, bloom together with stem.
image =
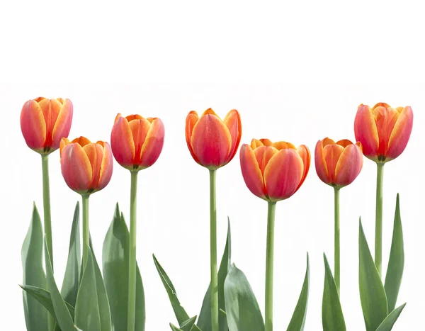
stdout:
<svg viewBox="0 0 425 331">
<path fill-rule="evenodd" d="M 128 331 L 135 330 L 136 313 L 137 174 L 157 161 L 163 145 L 164 124 L 159 118 L 116 116 L 111 132 L 113 156 L 131 173 L 128 302 L 123 303 L 128 305 Z"/>
</svg>

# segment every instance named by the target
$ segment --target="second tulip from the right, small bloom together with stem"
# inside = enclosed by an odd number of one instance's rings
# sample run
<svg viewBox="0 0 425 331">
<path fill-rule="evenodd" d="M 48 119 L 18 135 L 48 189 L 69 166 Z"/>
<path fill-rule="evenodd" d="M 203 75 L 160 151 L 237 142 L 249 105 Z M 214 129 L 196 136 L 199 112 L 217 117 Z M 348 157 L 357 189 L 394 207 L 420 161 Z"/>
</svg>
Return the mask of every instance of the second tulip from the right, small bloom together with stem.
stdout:
<svg viewBox="0 0 425 331">
<path fill-rule="evenodd" d="M 334 254 L 335 284 L 340 288 L 340 240 L 339 240 L 339 190 L 351 184 L 363 167 L 360 142 L 350 140 L 334 142 L 329 138 L 319 140 L 314 151 L 316 172 L 325 184 L 334 187 Z"/>
</svg>

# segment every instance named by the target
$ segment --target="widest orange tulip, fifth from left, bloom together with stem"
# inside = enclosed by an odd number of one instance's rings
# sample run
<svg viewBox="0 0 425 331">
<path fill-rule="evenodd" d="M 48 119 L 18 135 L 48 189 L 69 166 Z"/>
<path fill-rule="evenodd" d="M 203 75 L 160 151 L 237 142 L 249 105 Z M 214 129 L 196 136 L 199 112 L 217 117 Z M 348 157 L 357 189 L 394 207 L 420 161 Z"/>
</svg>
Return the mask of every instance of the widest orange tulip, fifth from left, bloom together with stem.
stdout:
<svg viewBox="0 0 425 331">
<path fill-rule="evenodd" d="M 265 331 L 273 330 L 273 254 L 276 202 L 293 196 L 310 168 L 310 150 L 290 142 L 253 139 L 241 147 L 242 176 L 248 189 L 268 201 Z"/>
</svg>

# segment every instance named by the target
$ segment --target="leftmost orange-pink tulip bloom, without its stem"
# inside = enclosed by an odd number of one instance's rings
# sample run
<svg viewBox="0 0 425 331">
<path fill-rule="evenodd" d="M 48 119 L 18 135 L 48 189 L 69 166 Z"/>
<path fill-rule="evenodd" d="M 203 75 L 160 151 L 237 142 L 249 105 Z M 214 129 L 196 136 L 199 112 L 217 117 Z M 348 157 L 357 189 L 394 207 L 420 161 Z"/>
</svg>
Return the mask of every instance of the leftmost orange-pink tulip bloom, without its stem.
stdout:
<svg viewBox="0 0 425 331">
<path fill-rule="evenodd" d="M 21 111 L 21 130 L 28 147 L 42 155 L 57 150 L 71 130 L 72 110 L 69 99 L 27 101 Z"/>
</svg>

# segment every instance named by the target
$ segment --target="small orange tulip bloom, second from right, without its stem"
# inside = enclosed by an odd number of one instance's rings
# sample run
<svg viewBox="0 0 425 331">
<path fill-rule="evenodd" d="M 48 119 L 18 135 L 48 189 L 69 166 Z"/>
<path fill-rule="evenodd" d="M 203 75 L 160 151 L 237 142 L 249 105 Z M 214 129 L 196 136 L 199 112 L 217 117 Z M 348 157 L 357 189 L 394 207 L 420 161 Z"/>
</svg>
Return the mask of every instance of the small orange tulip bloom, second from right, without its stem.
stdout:
<svg viewBox="0 0 425 331">
<path fill-rule="evenodd" d="M 363 167 L 361 143 L 350 140 L 319 140 L 315 149 L 316 172 L 325 184 L 341 188 L 351 184 Z"/>
</svg>

